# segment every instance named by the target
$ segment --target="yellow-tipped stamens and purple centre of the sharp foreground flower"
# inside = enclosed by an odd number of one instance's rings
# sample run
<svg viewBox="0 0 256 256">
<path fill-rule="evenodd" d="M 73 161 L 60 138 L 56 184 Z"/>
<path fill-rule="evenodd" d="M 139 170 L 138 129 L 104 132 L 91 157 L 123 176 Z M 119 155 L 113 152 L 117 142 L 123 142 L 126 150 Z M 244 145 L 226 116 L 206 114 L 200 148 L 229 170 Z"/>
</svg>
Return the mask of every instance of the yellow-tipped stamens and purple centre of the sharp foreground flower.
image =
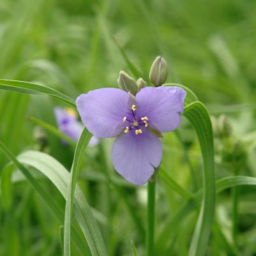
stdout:
<svg viewBox="0 0 256 256">
<path fill-rule="evenodd" d="M 124 128 L 124 133 L 134 132 L 135 135 L 139 135 L 142 133 L 142 127 L 148 126 L 148 118 L 146 116 L 138 118 L 135 114 L 137 107 L 136 105 L 132 105 L 131 113 L 128 113 L 127 116 L 123 117 L 123 123 L 126 124 Z"/>
</svg>

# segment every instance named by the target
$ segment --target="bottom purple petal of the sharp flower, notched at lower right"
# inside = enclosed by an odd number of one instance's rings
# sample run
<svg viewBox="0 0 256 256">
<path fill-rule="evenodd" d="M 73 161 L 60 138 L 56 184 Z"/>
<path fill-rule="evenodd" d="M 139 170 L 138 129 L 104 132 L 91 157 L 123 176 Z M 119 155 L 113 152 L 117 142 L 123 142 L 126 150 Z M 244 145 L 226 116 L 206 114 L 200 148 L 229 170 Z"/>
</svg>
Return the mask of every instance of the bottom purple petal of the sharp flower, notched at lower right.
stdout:
<svg viewBox="0 0 256 256">
<path fill-rule="evenodd" d="M 117 137 L 112 147 L 112 163 L 130 183 L 142 185 L 154 174 L 162 160 L 162 144 L 156 135 L 144 129 Z"/>
</svg>

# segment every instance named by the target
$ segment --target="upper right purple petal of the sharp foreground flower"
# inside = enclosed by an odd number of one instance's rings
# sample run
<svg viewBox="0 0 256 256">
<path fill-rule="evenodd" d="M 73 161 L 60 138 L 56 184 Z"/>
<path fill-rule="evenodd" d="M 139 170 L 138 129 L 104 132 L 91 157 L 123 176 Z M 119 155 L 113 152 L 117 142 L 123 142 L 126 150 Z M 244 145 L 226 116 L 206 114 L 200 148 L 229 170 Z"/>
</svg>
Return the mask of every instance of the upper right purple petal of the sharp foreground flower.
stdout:
<svg viewBox="0 0 256 256">
<path fill-rule="evenodd" d="M 159 132 L 175 130 L 181 123 L 186 91 L 176 86 L 145 87 L 136 94 L 137 117 L 148 118 Z"/>
</svg>

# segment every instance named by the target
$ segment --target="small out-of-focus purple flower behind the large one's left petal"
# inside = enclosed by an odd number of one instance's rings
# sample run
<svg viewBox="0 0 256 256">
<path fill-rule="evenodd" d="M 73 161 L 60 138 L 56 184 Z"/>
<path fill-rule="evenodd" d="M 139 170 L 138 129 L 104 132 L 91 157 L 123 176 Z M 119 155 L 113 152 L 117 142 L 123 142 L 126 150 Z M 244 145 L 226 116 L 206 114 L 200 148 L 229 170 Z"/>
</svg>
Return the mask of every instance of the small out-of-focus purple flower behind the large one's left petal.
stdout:
<svg viewBox="0 0 256 256">
<path fill-rule="evenodd" d="M 59 130 L 77 142 L 84 129 L 84 126 L 77 121 L 77 113 L 73 109 L 56 107 L 54 114 Z M 93 136 L 88 146 L 95 146 L 96 144 L 98 144 L 98 138 Z"/>
</svg>

